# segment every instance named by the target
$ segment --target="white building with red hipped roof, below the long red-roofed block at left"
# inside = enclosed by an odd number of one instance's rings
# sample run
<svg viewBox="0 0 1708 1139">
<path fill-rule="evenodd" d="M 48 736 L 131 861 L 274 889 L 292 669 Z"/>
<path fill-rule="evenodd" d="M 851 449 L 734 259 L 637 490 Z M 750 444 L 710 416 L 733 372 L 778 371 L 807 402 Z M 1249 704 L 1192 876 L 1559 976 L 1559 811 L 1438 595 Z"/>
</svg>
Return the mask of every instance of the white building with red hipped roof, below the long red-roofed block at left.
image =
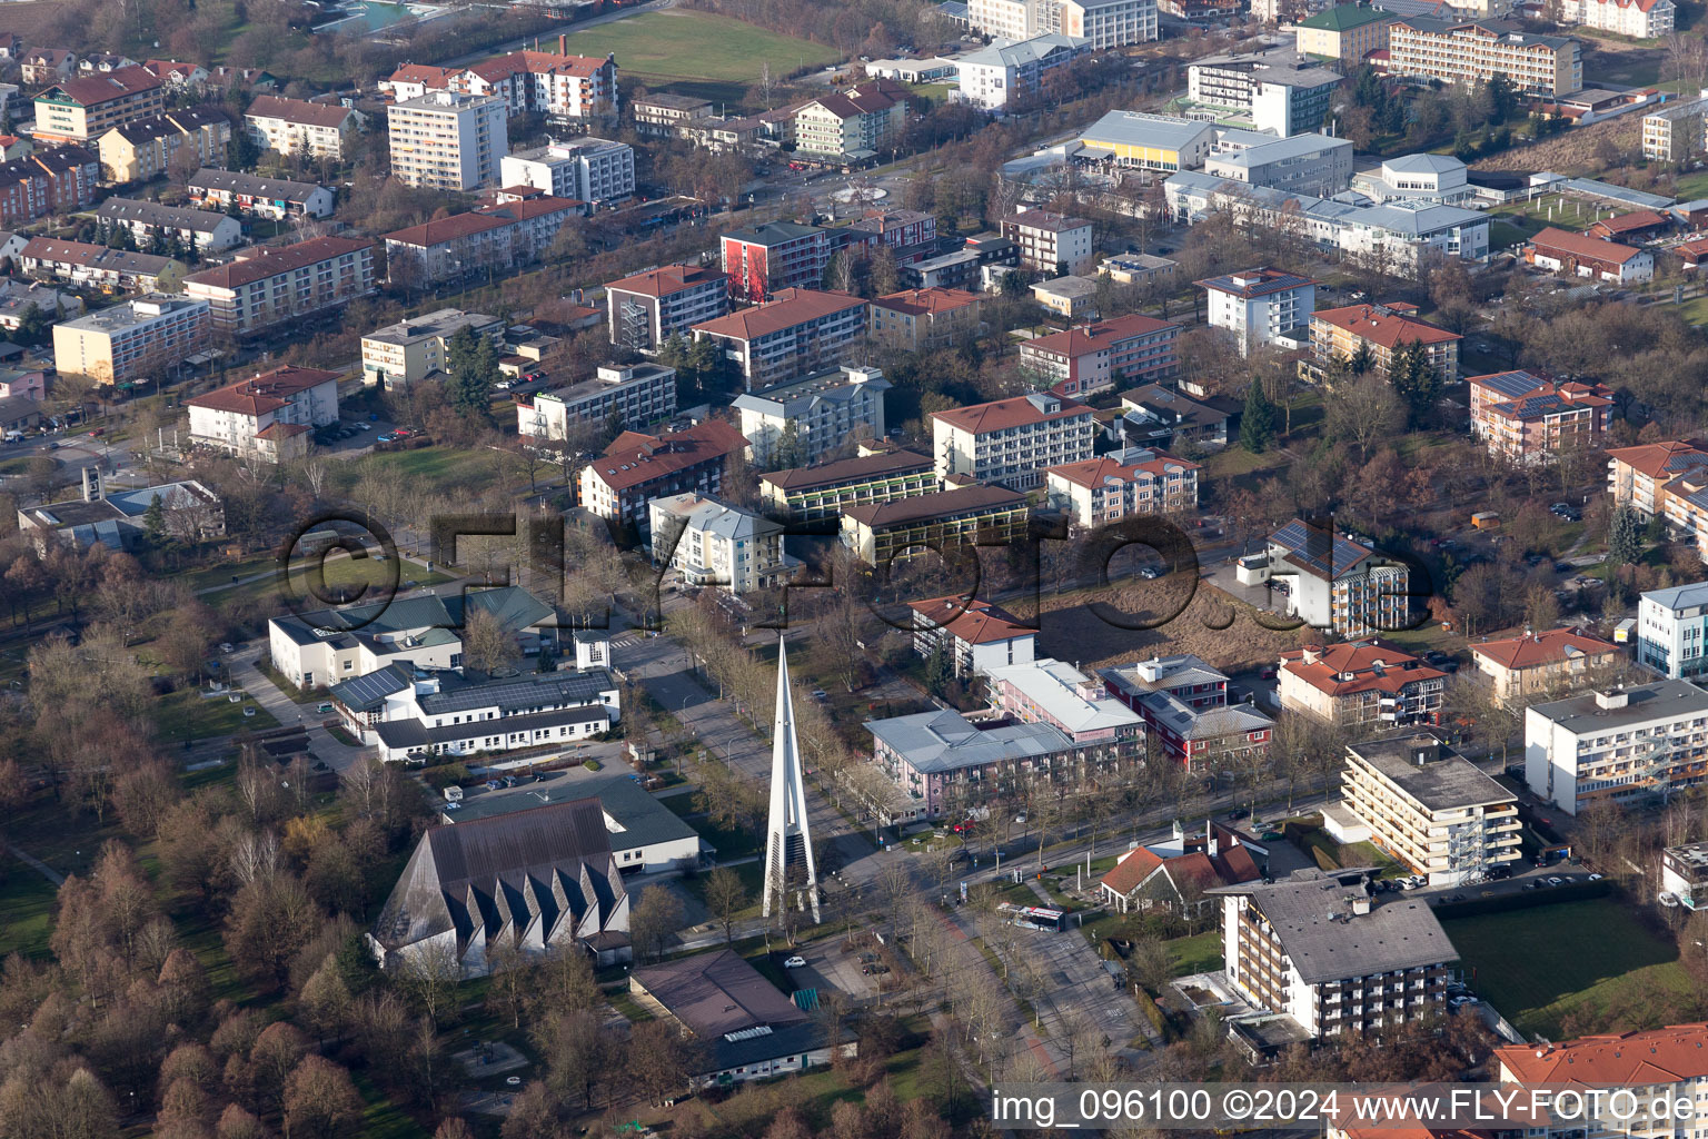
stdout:
<svg viewBox="0 0 1708 1139">
<path fill-rule="evenodd" d="M 316 427 L 338 422 L 338 372 L 287 364 L 184 400 L 184 406 L 191 442 L 285 463 L 307 454 Z"/>
</svg>

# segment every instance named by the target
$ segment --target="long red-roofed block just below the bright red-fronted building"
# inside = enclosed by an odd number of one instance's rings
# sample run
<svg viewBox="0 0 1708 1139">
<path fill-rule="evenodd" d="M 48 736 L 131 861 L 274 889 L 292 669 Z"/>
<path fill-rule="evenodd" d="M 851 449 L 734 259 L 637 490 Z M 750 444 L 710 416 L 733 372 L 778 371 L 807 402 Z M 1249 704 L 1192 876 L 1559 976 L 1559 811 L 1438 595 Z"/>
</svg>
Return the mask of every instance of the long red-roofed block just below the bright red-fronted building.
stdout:
<svg viewBox="0 0 1708 1139">
<path fill-rule="evenodd" d="M 811 289 L 784 289 L 760 306 L 693 326 L 695 340 L 716 342 L 736 364 L 748 391 L 837 367 L 864 336 L 864 301 Z"/>
</svg>

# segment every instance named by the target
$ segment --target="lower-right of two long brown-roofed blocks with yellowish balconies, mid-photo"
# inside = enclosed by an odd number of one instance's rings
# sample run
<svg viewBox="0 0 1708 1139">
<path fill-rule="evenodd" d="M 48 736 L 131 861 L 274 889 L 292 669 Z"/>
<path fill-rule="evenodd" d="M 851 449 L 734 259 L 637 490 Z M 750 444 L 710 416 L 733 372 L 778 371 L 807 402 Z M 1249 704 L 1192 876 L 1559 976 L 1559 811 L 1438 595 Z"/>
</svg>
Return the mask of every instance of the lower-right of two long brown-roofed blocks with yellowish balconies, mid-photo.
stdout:
<svg viewBox="0 0 1708 1139">
<path fill-rule="evenodd" d="M 1027 534 L 1027 495 L 956 487 L 895 502 L 842 507 L 842 545 L 868 565 L 963 545 L 1006 545 Z"/>
</svg>

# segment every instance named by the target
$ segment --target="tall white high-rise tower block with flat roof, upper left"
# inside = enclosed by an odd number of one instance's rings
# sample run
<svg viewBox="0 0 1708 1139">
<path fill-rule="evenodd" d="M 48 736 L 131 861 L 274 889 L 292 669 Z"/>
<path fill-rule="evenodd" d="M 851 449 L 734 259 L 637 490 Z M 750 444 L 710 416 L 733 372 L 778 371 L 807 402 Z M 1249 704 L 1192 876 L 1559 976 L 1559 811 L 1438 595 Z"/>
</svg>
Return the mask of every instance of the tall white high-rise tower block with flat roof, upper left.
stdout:
<svg viewBox="0 0 1708 1139">
<path fill-rule="evenodd" d="M 499 183 L 511 152 L 509 111 L 494 96 L 430 91 L 391 108 L 391 172 L 405 186 L 475 190 Z"/>
</svg>

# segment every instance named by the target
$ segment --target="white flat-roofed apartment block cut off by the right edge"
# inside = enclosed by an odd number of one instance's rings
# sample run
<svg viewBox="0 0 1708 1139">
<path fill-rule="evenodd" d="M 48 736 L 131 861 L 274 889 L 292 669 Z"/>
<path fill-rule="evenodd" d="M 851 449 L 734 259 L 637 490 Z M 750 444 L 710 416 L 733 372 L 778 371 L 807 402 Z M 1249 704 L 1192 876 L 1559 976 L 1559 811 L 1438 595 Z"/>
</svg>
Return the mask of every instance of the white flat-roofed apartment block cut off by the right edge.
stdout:
<svg viewBox="0 0 1708 1139">
<path fill-rule="evenodd" d="M 1578 815 L 1669 796 L 1708 774 L 1708 692 L 1682 680 L 1611 688 L 1524 712 L 1530 794 Z"/>
</svg>

